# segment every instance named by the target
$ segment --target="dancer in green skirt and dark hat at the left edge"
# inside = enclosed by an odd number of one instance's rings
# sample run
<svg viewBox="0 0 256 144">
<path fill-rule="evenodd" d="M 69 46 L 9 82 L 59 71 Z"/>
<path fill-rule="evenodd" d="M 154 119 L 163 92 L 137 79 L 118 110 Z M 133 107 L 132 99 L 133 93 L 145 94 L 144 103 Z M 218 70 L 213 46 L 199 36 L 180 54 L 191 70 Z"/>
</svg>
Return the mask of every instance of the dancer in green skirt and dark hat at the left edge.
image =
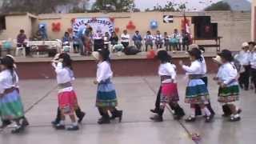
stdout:
<svg viewBox="0 0 256 144">
<path fill-rule="evenodd" d="M 0 111 L 4 122 L 15 122 L 11 132 L 20 133 L 28 125 L 24 116 L 22 100 L 18 91 L 18 75 L 15 72 L 14 59 L 6 56 L 1 60 L 0 73 Z M 6 125 L 7 126 L 7 125 Z M 5 126 L 4 126 L 5 127 Z M 4 128 L 2 127 L 2 128 Z"/>
</svg>

